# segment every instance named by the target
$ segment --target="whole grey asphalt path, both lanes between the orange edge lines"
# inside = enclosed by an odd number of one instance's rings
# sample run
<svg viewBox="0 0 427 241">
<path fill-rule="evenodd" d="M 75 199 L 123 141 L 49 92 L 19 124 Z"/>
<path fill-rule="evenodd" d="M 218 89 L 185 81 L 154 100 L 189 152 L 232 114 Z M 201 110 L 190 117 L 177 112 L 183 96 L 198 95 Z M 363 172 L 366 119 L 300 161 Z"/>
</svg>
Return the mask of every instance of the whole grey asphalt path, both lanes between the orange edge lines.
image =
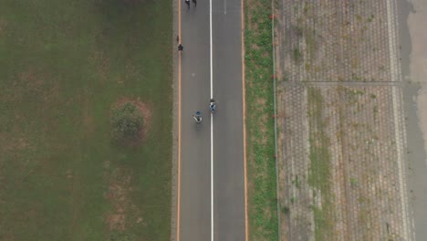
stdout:
<svg viewBox="0 0 427 241">
<path fill-rule="evenodd" d="M 181 241 L 211 239 L 209 2 L 182 1 Z M 240 0 L 213 1 L 214 240 L 245 240 Z M 195 124 L 192 115 L 203 113 Z"/>
</svg>

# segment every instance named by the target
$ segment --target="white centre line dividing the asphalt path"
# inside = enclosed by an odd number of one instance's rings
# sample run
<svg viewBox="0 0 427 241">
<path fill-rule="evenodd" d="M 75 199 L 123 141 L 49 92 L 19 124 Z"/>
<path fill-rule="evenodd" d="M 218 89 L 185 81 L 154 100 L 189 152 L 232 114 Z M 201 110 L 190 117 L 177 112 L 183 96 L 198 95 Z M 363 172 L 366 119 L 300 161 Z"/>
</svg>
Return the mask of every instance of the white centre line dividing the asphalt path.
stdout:
<svg viewBox="0 0 427 241">
<path fill-rule="evenodd" d="M 209 31 L 211 51 L 211 99 L 213 99 L 213 71 L 212 71 L 212 0 L 209 0 Z M 211 113 L 211 241 L 213 241 L 213 113 Z"/>
</svg>

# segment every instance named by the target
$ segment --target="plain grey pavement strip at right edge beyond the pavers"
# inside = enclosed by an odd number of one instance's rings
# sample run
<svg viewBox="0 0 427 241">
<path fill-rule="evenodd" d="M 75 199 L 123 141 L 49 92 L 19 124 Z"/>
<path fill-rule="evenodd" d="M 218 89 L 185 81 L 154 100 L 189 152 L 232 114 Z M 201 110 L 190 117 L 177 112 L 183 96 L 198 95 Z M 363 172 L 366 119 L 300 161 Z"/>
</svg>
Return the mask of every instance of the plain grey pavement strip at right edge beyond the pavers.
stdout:
<svg viewBox="0 0 427 241">
<path fill-rule="evenodd" d="M 427 2 L 399 2 L 401 73 L 408 138 L 408 189 L 416 240 L 427 240 Z"/>
</svg>

